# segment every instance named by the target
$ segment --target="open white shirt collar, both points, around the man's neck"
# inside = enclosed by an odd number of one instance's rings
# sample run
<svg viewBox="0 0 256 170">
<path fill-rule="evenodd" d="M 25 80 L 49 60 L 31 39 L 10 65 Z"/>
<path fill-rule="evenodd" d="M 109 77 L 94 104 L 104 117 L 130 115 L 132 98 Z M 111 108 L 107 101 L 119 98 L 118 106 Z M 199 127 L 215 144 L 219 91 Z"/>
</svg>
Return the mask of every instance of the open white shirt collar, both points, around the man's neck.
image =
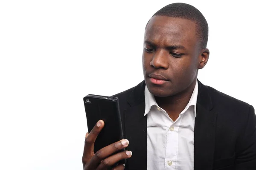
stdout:
<svg viewBox="0 0 256 170">
<path fill-rule="evenodd" d="M 195 88 L 194 88 L 194 91 L 192 93 L 192 96 L 191 96 L 191 98 L 189 100 L 189 103 L 186 105 L 186 108 L 184 109 L 184 111 L 186 111 L 190 106 L 194 106 L 195 117 L 196 117 L 197 97 L 198 97 L 198 81 L 196 81 Z M 156 100 L 154 98 L 154 95 L 151 94 L 148 91 L 148 88 L 145 85 L 145 113 L 144 113 L 144 116 L 146 116 L 148 114 L 148 112 L 150 111 L 151 107 L 154 106 L 154 105 L 158 106 L 157 102 L 156 102 Z M 183 113 L 183 111 L 181 113 Z"/>
</svg>

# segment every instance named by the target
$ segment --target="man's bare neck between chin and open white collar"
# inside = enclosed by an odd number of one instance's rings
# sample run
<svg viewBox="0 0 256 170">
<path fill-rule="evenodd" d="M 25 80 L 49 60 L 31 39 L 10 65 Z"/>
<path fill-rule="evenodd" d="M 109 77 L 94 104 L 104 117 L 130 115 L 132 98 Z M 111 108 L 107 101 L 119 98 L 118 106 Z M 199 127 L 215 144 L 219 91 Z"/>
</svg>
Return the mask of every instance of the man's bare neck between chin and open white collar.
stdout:
<svg viewBox="0 0 256 170">
<path fill-rule="evenodd" d="M 197 79 L 186 88 L 185 91 L 182 91 L 178 94 L 168 97 L 157 97 L 155 96 L 155 100 L 157 105 L 163 108 L 169 115 L 169 117 L 175 121 L 180 113 L 185 109 L 186 105 L 189 103 L 189 100 L 193 94 L 195 84 Z"/>
</svg>

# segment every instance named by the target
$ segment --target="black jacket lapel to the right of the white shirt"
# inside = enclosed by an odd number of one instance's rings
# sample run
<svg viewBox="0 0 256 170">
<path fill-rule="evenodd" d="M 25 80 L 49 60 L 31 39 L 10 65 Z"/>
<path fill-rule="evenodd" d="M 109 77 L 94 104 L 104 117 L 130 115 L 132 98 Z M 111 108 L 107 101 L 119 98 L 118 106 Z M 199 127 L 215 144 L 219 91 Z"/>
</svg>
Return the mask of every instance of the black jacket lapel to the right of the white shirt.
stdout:
<svg viewBox="0 0 256 170">
<path fill-rule="evenodd" d="M 194 132 L 195 170 L 212 170 L 213 167 L 217 113 L 212 110 L 212 107 L 207 86 L 198 81 Z"/>
</svg>

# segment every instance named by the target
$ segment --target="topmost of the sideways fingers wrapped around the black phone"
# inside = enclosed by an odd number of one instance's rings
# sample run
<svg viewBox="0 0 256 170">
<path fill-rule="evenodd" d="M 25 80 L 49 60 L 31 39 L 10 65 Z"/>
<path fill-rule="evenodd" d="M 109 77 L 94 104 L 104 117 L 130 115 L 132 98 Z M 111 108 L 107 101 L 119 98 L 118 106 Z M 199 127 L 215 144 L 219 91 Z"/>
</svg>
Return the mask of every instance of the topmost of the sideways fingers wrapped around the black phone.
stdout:
<svg viewBox="0 0 256 170">
<path fill-rule="evenodd" d="M 94 154 L 94 156 L 92 157 L 92 159 L 90 161 L 90 167 L 91 168 L 97 167 L 101 163 L 102 160 L 111 156 L 113 153 L 116 153 L 117 151 L 119 151 L 125 147 L 128 147 L 128 144 L 129 144 L 129 141 L 127 139 L 122 139 L 118 142 L 115 142 L 113 144 L 110 144 L 110 145 L 98 150 Z"/>
</svg>

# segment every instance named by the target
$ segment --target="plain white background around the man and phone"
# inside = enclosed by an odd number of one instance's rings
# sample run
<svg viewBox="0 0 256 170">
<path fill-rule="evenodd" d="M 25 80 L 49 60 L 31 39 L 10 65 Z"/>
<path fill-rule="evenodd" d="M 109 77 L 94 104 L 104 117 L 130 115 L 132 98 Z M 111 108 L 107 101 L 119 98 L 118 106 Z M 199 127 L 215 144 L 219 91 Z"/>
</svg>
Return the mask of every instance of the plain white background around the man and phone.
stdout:
<svg viewBox="0 0 256 170">
<path fill-rule="evenodd" d="M 1 0 L 0 169 L 81 170 L 83 97 L 143 80 L 145 24 L 172 0 Z M 199 80 L 256 107 L 253 1 L 192 1 L 209 24 Z"/>
</svg>

